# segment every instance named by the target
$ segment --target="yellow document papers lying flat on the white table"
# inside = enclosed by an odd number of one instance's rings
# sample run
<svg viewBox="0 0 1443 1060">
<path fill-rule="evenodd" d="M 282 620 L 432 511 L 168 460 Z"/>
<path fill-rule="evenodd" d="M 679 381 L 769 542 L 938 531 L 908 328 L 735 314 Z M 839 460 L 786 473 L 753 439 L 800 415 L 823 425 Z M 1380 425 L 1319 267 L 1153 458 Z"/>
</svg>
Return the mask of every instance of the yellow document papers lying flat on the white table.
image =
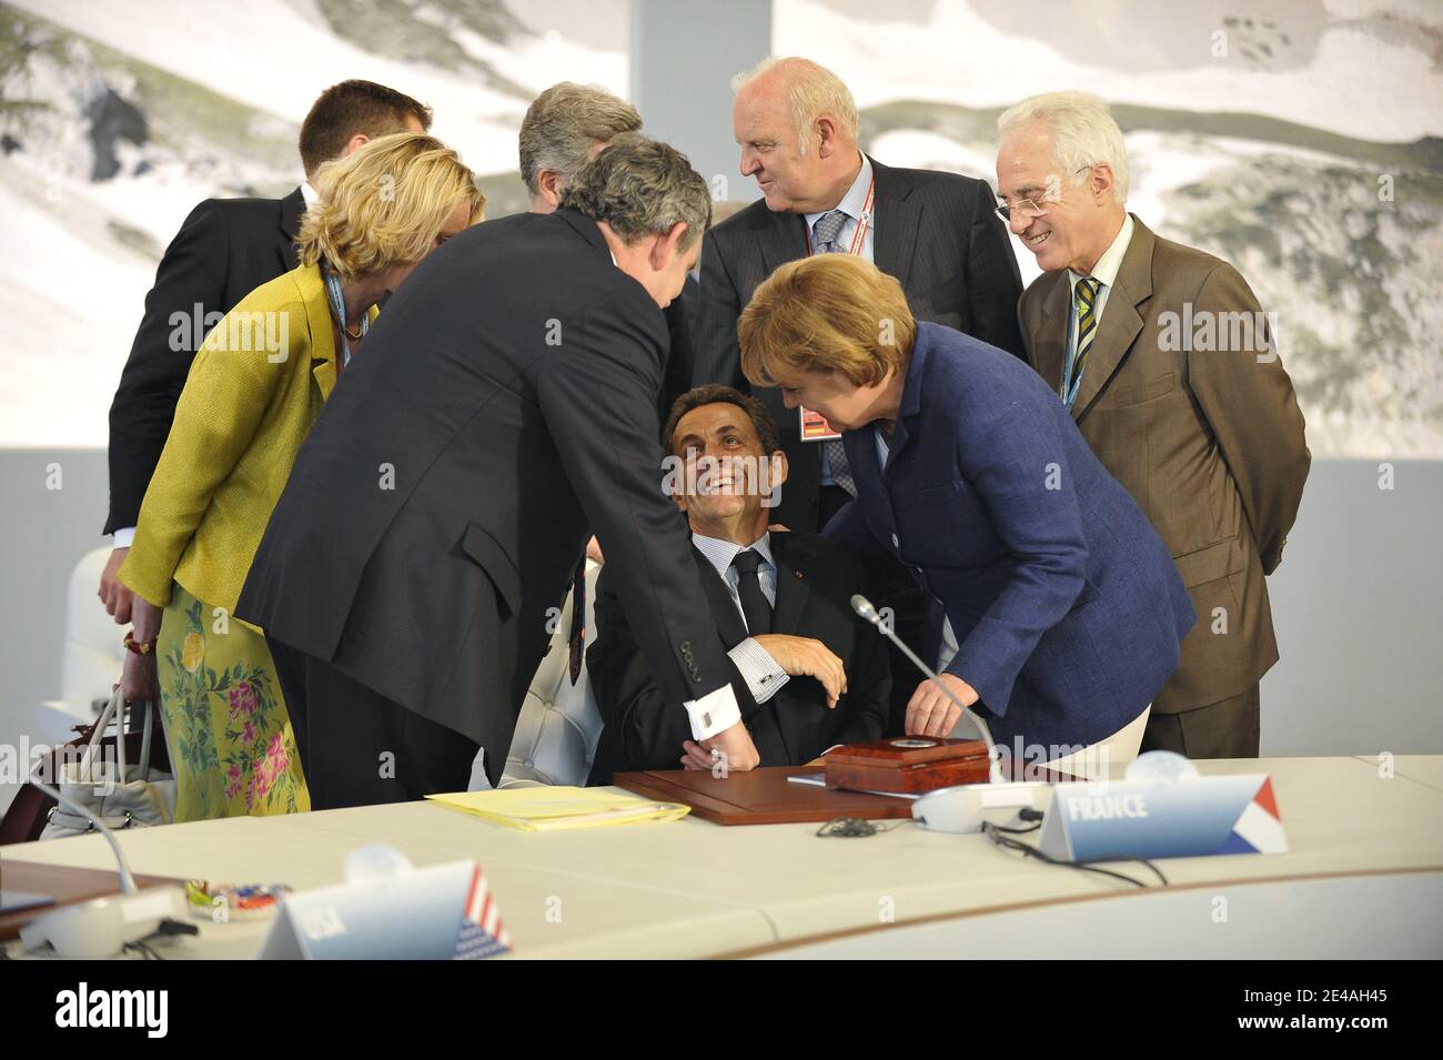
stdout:
<svg viewBox="0 0 1443 1060">
<path fill-rule="evenodd" d="M 691 812 L 690 806 L 681 803 L 649 802 L 599 787 L 508 787 L 499 792 L 457 792 L 426 798 L 524 832 L 677 821 Z"/>
</svg>

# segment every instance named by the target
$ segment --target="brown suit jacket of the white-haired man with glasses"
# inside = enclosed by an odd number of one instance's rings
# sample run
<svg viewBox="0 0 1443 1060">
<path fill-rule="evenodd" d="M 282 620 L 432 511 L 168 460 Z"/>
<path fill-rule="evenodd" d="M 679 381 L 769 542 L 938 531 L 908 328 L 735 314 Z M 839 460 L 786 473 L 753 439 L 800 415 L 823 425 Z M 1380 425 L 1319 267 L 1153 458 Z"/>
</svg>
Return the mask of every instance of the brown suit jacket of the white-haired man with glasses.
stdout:
<svg viewBox="0 0 1443 1060">
<path fill-rule="evenodd" d="M 1264 574 L 1283 558 L 1310 456 L 1276 350 L 1260 362 L 1261 345 L 1219 352 L 1199 342 L 1189 350 L 1175 340 L 1189 320 L 1227 323 L 1235 317 L 1222 314 L 1247 313 L 1251 322 L 1260 307 L 1247 281 L 1225 261 L 1133 224 L 1072 415 L 1162 535 L 1192 594 L 1198 624 L 1153 702 L 1172 714 L 1240 695 L 1277 662 Z M 1019 306 L 1027 356 L 1053 391 L 1069 300 L 1062 270 L 1039 277 Z"/>
</svg>

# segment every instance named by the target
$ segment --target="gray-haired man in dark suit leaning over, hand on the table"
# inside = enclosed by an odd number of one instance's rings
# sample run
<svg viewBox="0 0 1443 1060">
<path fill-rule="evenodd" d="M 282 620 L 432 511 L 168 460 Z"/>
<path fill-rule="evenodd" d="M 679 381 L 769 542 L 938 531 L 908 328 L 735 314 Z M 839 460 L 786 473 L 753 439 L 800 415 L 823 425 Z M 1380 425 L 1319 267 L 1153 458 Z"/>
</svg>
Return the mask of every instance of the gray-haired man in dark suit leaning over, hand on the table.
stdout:
<svg viewBox="0 0 1443 1060">
<path fill-rule="evenodd" d="M 495 785 L 593 531 L 665 701 L 756 764 L 659 483 L 661 307 L 710 219 L 685 157 L 626 133 L 560 209 L 468 229 L 387 303 L 237 606 L 307 728 L 315 808 L 463 790 L 478 748 Z"/>
</svg>

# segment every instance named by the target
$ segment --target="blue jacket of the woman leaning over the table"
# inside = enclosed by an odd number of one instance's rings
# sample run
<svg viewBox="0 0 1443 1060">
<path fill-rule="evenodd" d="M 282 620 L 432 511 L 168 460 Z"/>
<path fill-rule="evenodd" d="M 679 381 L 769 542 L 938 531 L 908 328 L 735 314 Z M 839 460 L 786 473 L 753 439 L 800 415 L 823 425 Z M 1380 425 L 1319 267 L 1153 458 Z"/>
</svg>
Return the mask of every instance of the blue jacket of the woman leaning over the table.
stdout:
<svg viewBox="0 0 1443 1060">
<path fill-rule="evenodd" d="M 960 645 L 947 669 L 981 694 L 997 743 L 1087 746 L 1141 714 L 1192 603 L 1036 372 L 922 323 L 886 470 L 870 427 L 843 438 L 857 500 L 828 535 L 885 548 L 942 601 Z"/>
</svg>

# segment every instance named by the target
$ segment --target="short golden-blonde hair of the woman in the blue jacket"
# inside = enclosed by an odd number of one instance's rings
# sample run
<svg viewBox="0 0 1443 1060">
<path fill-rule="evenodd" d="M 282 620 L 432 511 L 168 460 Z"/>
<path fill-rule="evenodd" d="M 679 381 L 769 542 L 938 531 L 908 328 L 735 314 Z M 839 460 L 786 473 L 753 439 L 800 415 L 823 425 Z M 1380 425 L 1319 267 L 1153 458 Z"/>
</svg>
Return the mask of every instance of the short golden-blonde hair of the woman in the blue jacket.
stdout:
<svg viewBox="0 0 1443 1060">
<path fill-rule="evenodd" d="M 742 372 L 775 387 L 772 372 L 840 372 L 872 387 L 905 371 L 916 319 L 902 284 L 870 261 L 818 254 L 789 261 L 768 277 L 737 322 Z"/>
</svg>

